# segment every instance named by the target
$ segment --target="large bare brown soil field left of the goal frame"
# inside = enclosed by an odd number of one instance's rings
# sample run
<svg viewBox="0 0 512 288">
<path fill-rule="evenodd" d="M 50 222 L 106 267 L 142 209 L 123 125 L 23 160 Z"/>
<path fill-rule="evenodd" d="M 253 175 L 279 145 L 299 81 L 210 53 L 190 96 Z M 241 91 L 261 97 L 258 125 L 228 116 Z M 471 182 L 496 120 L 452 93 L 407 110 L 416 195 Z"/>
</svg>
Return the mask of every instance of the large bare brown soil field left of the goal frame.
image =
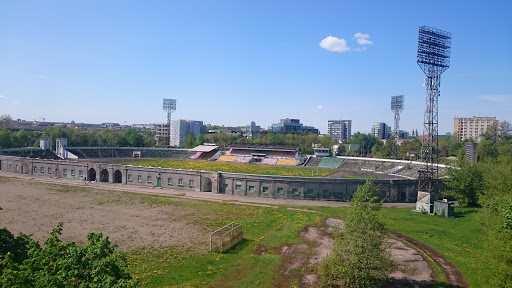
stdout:
<svg viewBox="0 0 512 288">
<path fill-rule="evenodd" d="M 135 193 L 4 179 L 0 181 L 0 227 L 15 235 L 33 234 L 42 241 L 58 222 L 64 222 L 63 241 L 84 243 L 93 231 L 108 235 L 121 250 L 208 247 L 207 231 L 194 224 L 204 216 L 192 208 L 144 203 Z"/>
</svg>

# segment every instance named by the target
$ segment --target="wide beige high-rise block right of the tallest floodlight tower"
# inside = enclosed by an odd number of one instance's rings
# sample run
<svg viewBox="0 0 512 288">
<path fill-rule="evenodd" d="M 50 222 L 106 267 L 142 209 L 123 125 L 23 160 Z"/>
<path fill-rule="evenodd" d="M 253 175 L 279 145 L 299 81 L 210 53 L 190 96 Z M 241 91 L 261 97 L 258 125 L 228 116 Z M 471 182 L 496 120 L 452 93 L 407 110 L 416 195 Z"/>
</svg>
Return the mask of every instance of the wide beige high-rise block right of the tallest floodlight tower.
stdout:
<svg viewBox="0 0 512 288">
<path fill-rule="evenodd" d="M 457 135 L 457 140 L 473 139 L 480 142 L 481 135 L 491 124 L 497 123 L 496 117 L 475 117 L 473 118 L 453 118 L 453 135 Z"/>
</svg>

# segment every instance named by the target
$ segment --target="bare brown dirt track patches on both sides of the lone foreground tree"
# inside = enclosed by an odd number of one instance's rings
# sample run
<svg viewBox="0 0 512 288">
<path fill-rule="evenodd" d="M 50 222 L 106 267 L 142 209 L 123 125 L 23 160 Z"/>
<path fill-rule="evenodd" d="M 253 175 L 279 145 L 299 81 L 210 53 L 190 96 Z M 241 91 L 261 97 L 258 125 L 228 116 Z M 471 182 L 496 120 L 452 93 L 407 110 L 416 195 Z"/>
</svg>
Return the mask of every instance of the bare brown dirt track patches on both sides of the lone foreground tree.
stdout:
<svg viewBox="0 0 512 288">
<path fill-rule="evenodd" d="M 319 278 L 316 275 L 318 264 L 329 254 L 334 245 L 334 227 L 342 227 L 343 223 L 338 219 L 327 219 L 323 226 L 306 227 L 300 232 L 303 240 L 295 245 L 283 245 L 276 249 L 275 253 L 282 256 L 279 268 L 280 280 L 277 287 L 291 287 L 298 283 L 301 288 L 314 288 L 319 286 Z M 462 274 L 453 264 L 446 260 L 435 250 L 415 241 L 414 239 L 392 232 L 402 241 L 411 243 L 414 247 L 432 258 L 443 270 L 448 287 L 468 287 Z M 434 285 L 434 273 L 428 261 L 416 249 L 406 243 L 395 239 L 389 239 L 389 252 L 395 262 L 395 270 L 390 274 L 388 287 L 431 287 Z M 254 253 L 266 252 L 264 247 L 258 247 Z"/>
</svg>

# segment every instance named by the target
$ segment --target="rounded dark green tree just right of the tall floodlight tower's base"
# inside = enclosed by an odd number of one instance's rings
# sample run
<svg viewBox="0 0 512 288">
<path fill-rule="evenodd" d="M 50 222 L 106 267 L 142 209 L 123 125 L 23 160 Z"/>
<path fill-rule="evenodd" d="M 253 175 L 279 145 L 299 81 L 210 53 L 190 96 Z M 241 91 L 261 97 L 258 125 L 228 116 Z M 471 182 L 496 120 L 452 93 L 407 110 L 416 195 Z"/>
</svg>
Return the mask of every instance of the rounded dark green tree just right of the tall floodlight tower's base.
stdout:
<svg viewBox="0 0 512 288">
<path fill-rule="evenodd" d="M 460 168 L 448 168 L 448 178 L 443 181 L 448 190 L 443 195 L 455 198 L 461 205 L 478 206 L 485 187 L 482 171 L 464 160 L 459 163 Z"/>
</svg>

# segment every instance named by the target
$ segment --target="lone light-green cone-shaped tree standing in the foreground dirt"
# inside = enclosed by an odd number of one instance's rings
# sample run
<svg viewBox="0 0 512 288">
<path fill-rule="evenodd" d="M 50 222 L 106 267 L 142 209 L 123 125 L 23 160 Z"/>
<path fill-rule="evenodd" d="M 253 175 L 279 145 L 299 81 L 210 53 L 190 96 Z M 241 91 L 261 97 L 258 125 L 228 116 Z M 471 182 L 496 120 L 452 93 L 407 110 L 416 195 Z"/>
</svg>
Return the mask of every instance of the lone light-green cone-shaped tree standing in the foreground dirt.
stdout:
<svg viewBox="0 0 512 288">
<path fill-rule="evenodd" d="M 388 279 L 393 264 L 378 191 L 368 179 L 354 193 L 344 228 L 336 231 L 333 250 L 320 264 L 323 286 L 378 287 Z"/>
</svg>

